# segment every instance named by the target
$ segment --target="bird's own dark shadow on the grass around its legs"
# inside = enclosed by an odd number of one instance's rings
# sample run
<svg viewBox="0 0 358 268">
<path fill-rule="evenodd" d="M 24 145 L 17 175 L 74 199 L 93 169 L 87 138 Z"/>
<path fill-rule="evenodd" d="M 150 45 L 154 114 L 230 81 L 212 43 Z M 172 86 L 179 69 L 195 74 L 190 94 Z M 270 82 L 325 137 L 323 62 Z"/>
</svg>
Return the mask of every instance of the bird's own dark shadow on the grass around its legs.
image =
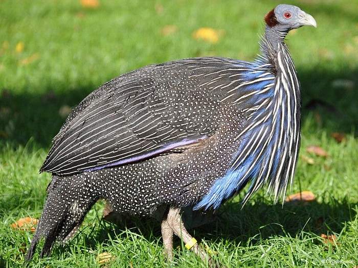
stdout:
<svg viewBox="0 0 358 268">
<path fill-rule="evenodd" d="M 263 202 L 263 199 L 257 200 L 255 204 L 247 204 L 242 209 L 238 203 L 226 204 L 211 223 L 189 232 L 197 239 L 211 242 L 227 240 L 235 247 L 253 246 L 258 241 L 277 236 L 302 238 L 302 232 L 318 236 L 339 234 L 349 221 L 354 220 L 356 212 L 353 208 L 358 205 L 349 204 L 346 199 L 330 199 L 327 203 L 286 203 L 283 207 Z M 116 240 L 127 238 L 128 231 L 124 231 L 126 228 L 154 244 L 161 238 L 160 223 L 153 218 L 131 217 L 119 225 L 104 221 L 98 224 L 100 227 L 97 232 L 77 235 L 71 243 L 84 239 L 86 247 L 95 249 L 96 245 L 109 242 L 109 237 Z M 59 255 L 70 250 L 71 243 L 64 248 L 56 247 L 53 254 Z M 180 246 L 180 240 L 176 238 L 174 247 L 177 246 Z"/>
</svg>

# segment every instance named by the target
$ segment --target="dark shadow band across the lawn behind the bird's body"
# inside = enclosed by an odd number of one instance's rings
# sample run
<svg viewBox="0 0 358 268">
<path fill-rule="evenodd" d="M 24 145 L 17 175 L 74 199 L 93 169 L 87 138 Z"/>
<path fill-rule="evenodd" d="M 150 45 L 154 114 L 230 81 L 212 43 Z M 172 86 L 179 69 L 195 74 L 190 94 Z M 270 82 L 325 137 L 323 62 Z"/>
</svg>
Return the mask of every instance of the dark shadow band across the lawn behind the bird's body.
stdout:
<svg viewBox="0 0 358 268">
<path fill-rule="evenodd" d="M 328 131 L 358 130 L 358 70 L 334 72 L 327 69 L 298 70 L 302 85 L 303 120 L 314 112 L 318 127 Z M 46 88 L 46 86 L 44 86 Z M 14 94 L 3 89 L 0 98 L 0 137 L 14 146 L 31 137 L 42 148 L 49 148 L 65 117 L 64 106 L 76 106 L 96 87 L 82 85 L 68 90 L 66 85 L 48 88 L 45 94 Z"/>
</svg>

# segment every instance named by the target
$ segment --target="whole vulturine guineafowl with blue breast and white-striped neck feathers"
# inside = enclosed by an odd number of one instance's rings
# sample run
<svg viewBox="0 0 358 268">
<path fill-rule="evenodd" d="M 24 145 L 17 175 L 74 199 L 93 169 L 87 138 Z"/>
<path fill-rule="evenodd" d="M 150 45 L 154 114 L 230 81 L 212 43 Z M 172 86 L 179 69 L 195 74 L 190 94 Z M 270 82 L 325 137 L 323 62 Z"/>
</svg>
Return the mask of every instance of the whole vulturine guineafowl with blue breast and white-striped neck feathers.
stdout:
<svg viewBox="0 0 358 268">
<path fill-rule="evenodd" d="M 73 236 L 99 199 L 119 213 L 162 213 L 165 252 L 173 234 L 201 257 L 181 209 L 217 209 L 249 184 L 276 200 L 294 178 L 301 93 L 284 43 L 289 30 L 316 27 L 300 8 L 278 5 L 264 18 L 253 62 L 191 58 L 145 66 L 89 94 L 69 115 L 41 167 L 52 173 L 31 247 Z"/>
</svg>

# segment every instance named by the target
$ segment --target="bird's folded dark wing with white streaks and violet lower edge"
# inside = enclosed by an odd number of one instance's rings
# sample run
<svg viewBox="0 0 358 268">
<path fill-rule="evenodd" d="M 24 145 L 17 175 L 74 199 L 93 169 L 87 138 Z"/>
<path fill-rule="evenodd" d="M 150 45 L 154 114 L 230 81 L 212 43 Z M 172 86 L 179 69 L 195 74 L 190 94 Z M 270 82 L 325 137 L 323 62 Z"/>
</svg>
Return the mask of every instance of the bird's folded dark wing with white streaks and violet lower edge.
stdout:
<svg viewBox="0 0 358 268">
<path fill-rule="evenodd" d="M 137 162 L 212 136 L 219 97 L 199 84 L 222 68 L 213 61 L 147 66 L 104 84 L 70 114 L 41 171 L 71 175 Z"/>
</svg>

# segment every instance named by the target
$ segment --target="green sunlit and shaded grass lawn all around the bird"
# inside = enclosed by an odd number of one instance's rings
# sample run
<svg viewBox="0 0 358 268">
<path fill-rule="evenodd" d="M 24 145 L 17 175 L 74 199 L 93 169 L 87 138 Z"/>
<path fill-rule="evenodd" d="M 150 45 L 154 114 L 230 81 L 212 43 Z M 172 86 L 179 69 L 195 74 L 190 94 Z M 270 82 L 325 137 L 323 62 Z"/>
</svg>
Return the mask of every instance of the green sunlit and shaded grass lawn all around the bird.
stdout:
<svg viewBox="0 0 358 268">
<path fill-rule="evenodd" d="M 191 231 L 227 267 L 358 265 L 358 4 L 286 1 L 313 15 L 318 28 L 288 35 L 302 84 L 301 156 L 290 193 L 310 190 L 307 204 L 273 205 L 262 190 L 241 210 L 242 194 L 219 210 L 214 224 Z M 252 60 L 263 15 L 277 1 L 77 1 L 4 0 L 0 9 L 0 267 L 22 266 L 32 233 L 10 225 L 39 217 L 49 174 L 38 175 L 52 137 L 73 107 L 111 78 L 154 62 L 195 56 Z M 175 25 L 163 35 L 161 29 Z M 200 27 L 223 30 L 217 43 L 192 38 Z M 23 50 L 21 50 L 23 43 Z M 16 52 L 17 47 L 17 52 Z M 332 132 L 345 133 L 337 143 Z M 316 144 L 327 158 L 309 155 Z M 162 254 L 159 224 L 137 221 L 120 228 L 100 220 L 103 204 L 88 213 L 78 235 L 34 267 L 97 267 L 96 256 L 115 256 L 111 267 L 205 266 L 179 247 L 175 261 Z M 321 234 L 336 235 L 335 245 Z"/>
</svg>

